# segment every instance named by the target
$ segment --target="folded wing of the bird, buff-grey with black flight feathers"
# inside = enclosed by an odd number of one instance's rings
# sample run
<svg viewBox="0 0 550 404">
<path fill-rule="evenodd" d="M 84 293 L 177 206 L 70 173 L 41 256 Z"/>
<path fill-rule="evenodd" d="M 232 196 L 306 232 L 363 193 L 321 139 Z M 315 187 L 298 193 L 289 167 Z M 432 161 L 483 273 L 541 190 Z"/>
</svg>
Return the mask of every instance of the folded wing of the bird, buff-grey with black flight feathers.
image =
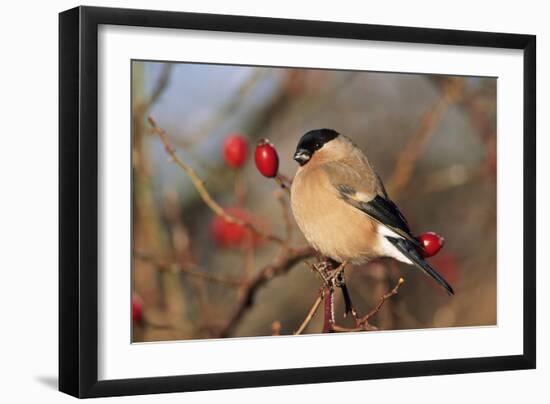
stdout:
<svg viewBox="0 0 550 404">
<path fill-rule="evenodd" d="M 350 164 L 342 162 L 326 163 L 323 169 L 342 200 L 422 249 L 411 234 L 403 214 L 386 197 L 384 187 L 374 171 L 369 169 L 359 172 Z"/>
</svg>

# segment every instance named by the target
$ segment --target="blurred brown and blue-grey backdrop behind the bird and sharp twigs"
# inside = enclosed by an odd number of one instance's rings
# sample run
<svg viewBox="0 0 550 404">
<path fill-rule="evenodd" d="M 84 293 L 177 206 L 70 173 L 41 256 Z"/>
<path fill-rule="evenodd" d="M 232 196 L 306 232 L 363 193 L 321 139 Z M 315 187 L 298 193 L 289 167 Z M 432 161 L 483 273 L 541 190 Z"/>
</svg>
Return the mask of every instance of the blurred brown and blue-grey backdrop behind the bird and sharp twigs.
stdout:
<svg viewBox="0 0 550 404">
<path fill-rule="evenodd" d="M 134 342 L 298 330 L 321 286 L 303 261 L 316 259 L 254 149 L 268 138 L 291 179 L 300 136 L 324 127 L 365 151 L 414 234 L 445 237 L 429 261 L 456 292 L 391 260 L 348 267 L 359 314 L 403 276 L 369 320 L 379 329 L 496 324 L 496 79 L 134 61 Z M 172 148 L 227 213 L 282 243 L 217 215 Z M 322 323 L 321 307 L 303 333 Z"/>
</svg>

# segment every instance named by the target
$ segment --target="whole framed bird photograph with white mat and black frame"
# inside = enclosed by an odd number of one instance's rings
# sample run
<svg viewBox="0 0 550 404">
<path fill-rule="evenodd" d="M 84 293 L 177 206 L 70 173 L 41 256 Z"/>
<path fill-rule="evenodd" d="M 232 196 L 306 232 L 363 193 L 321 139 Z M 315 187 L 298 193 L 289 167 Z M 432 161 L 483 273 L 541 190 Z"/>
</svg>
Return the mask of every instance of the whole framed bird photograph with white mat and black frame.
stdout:
<svg viewBox="0 0 550 404">
<path fill-rule="evenodd" d="M 534 36 L 59 22 L 61 391 L 535 367 Z"/>
</svg>

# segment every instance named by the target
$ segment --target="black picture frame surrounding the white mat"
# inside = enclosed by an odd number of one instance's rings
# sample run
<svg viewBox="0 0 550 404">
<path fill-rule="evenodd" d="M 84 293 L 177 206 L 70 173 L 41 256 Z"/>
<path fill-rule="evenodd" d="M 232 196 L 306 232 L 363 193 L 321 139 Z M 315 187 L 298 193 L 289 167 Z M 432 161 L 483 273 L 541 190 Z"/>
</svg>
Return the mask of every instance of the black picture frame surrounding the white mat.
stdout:
<svg viewBox="0 0 550 404">
<path fill-rule="evenodd" d="M 523 354 L 99 381 L 100 24 L 523 50 Z M 535 87 L 533 35 L 96 7 L 60 13 L 59 389 L 84 398 L 535 368 Z"/>
</svg>

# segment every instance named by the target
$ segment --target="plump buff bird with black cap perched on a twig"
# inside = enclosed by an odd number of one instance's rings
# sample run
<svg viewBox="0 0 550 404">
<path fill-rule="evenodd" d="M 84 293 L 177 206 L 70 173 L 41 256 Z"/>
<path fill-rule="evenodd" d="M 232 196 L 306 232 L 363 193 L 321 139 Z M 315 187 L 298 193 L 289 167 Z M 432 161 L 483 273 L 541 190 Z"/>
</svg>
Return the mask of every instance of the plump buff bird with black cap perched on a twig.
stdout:
<svg viewBox="0 0 550 404">
<path fill-rule="evenodd" d="M 294 153 L 299 167 L 291 209 L 308 243 L 336 265 L 393 258 L 413 265 L 442 286 L 451 285 L 421 254 L 405 216 L 389 198 L 367 156 L 333 129 L 305 133 Z"/>
</svg>

